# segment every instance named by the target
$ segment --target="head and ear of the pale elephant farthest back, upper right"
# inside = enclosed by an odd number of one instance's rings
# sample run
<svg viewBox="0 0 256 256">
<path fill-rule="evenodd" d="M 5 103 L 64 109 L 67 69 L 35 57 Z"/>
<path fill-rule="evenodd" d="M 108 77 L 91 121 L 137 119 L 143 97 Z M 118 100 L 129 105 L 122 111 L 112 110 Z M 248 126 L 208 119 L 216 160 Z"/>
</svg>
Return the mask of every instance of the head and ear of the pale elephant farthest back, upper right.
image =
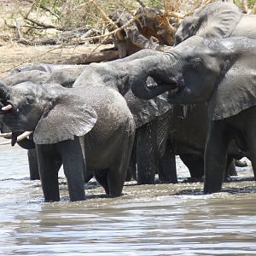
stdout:
<svg viewBox="0 0 256 256">
<path fill-rule="evenodd" d="M 241 20 L 241 11 L 233 3 L 216 2 L 196 9 L 184 18 L 175 34 L 176 44 L 194 35 L 202 38 L 228 38 Z"/>
</svg>

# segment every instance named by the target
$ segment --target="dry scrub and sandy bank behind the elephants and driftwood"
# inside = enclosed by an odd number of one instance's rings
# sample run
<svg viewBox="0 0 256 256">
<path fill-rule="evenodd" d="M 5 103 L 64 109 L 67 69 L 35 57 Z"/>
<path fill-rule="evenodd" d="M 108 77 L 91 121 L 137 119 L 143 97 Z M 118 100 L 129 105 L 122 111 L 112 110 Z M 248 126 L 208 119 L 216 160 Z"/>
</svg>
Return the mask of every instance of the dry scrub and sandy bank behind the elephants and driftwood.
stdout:
<svg viewBox="0 0 256 256">
<path fill-rule="evenodd" d="M 116 9 L 127 12 L 134 20 L 143 6 L 160 9 L 175 31 L 183 16 L 211 2 L 214 1 L 0 0 L 0 76 L 20 64 L 57 62 L 109 48 L 106 44 L 113 44 L 113 36 L 120 34 L 109 19 Z M 235 2 L 245 12 L 256 12 L 256 0 Z"/>
</svg>

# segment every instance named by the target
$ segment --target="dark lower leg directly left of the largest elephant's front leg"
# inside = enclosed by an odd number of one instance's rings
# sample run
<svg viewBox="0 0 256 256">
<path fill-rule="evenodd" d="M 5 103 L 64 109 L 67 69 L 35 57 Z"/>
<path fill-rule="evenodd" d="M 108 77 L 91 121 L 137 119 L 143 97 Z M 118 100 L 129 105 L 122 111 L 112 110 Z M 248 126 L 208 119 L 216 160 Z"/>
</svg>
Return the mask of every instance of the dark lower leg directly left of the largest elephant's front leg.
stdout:
<svg viewBox="0 0 256 256">
<path fill-rule="evenodd" d="M 204 175 L 204 158 L 200 154 L 180 154 L 180 159 L 188 167 L 190 177 L 201 179 Z"/>
</svg>

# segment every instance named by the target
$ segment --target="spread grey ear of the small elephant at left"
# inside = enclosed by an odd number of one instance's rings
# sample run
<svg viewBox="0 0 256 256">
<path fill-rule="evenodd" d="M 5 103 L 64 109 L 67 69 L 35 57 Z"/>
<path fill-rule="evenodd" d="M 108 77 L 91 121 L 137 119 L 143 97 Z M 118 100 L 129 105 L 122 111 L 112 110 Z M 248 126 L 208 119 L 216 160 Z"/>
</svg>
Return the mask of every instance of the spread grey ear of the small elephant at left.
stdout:
<svg viewBox="0 0 256 256">
<path fill-rule="evenodd" d="M 64 96 L 45 111 L 33 134 L 36 144 L 52 144 L 84 136 L 96 124 L 96 111 L 80 96 Z"/>
</svg>

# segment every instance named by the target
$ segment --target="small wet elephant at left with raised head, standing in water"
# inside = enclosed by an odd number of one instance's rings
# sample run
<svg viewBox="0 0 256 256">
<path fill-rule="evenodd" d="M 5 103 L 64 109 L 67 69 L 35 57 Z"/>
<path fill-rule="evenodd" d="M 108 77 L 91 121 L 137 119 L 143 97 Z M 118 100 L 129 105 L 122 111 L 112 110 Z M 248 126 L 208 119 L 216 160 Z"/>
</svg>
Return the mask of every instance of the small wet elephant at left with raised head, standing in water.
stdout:
<svg viewBox="0 0 256 256">
<path fill-rule="evenodd" d="M 33 131 L 45 201 L 60 200 L 56 159 L 63 163 L 71 201 L 85 199 L 85 162 L 108 195 L 121 195 L 135 124 L 117 91 L 25 82 L 0 84 L 0 96 L 4 106 L 13 106 L 3 111 L 3 124 L 13 132 Z"/>
</svg>

